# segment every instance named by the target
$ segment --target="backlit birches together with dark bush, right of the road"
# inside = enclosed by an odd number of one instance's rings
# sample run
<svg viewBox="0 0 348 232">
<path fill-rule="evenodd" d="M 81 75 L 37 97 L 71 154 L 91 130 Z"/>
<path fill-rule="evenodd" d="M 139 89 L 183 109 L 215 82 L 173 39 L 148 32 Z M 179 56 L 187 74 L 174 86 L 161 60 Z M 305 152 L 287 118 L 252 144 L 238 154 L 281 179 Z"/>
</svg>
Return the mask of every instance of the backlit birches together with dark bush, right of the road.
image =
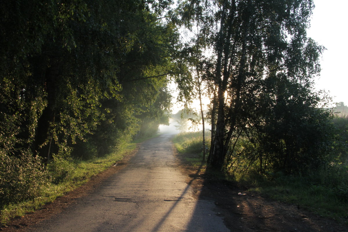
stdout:
<svg viewBox="0 0 348 232">
<path fill-rule="evenodd" d="M 243 155 L 261 173 L 329 163 L 332 114 L 318 107 L 330 99 L 313 91 L 324 48 L 306 34 L 313 8 L 311 0 L 181 2 L 188 62 L 211 99 L 211 168 L 240 168 Z"/>
</svg>

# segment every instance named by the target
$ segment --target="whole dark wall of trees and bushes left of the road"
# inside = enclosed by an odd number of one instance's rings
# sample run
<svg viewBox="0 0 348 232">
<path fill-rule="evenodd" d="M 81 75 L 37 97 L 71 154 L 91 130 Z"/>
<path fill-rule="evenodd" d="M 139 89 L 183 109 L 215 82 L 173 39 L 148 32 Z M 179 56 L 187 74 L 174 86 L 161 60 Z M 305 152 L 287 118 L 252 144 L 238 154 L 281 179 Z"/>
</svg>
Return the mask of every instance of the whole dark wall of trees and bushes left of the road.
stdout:
<svg viewBox="0 0 348 232">
<path fill-rule="evenodd" d="M 108 154 L 168 122 L 179 44 L 170 4 L 0 3 L 1 205 L 59 181 L 71 157 Z"/>
</svg>

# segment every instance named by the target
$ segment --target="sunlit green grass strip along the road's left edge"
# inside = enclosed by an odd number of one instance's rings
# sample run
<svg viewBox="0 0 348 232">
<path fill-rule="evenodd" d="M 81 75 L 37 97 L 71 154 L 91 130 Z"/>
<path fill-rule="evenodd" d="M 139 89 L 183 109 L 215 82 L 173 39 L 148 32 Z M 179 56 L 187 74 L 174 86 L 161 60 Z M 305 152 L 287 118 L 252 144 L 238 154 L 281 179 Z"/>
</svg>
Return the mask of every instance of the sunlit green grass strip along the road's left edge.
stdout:
<svg viewBox="0 0 348 232">
<path fill-rule="evenodd" d="M 156 137 L 158 135 L 152 136 Z M 151 137 L 151 138 L 152 138 Z M 19 202 L 16 204 L 8 204 L 0 211 L 0 222 L 6 224 L 11 218 L 22 217 L 26 213 L 34 212 L 43 205 L 53 202 L 56 198 L 62 197 L 64 194 L 76 189 L 77 187 L 87 183 L 92 176 L 108 169 L 116 162 L 122 160 L 124 155 L 136 149 L 137 143 L 141 143 L 149 138 L 142 138 L 129 143 L 124 149 L 109 154 L 102 158 L 94 158 L 88 161 L 82 160 L 64 160 L 60 167 L 65 172 L 63 178 L 57 182 L 49 183 L 45 186 L 39 197 L 33 200 Z M 65 165 L 65 167 L 64 167 Z"/>
</svg>

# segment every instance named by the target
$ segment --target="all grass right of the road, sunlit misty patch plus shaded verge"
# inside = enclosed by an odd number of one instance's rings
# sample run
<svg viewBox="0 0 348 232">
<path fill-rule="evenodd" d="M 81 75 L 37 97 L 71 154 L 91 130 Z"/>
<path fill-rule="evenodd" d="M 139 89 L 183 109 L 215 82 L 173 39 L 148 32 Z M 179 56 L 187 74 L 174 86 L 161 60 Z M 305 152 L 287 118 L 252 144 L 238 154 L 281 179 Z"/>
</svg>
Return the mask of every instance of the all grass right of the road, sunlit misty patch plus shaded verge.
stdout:
<svg viewBox="0 0 348 232">
<path fill-rule="evenodd" d="M 201 144 L 201 133 L 179 134 L 173 138 L 173 143 L 189 165 L 200 165 L 201 147 L 198 144 Z M 250 192 L 348 223 L 348 167 L 333 165 L 326 170 L 313 171 L 306 177 L 252 172 L 218 174 L 209 169 L 207 172 L 211 178 L 235 182 Z"/>
</svg>

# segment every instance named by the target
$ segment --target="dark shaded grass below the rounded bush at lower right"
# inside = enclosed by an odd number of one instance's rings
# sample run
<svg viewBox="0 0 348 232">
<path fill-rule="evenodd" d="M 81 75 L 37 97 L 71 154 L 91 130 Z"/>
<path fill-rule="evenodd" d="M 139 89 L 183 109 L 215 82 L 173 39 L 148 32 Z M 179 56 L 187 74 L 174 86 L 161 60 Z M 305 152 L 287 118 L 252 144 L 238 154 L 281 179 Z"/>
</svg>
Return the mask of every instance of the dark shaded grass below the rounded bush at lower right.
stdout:
<svg viewBox="0 0 348 232">
<path fill-rule="evenodd" d="M 272 199 L 291 203 L 317 215 L 348 222 L 347 190 L 334 187 L 328 183 L 318 183 L 316 179 L 322 173 L 313 174 L 307 178 L 299 176 L 284 176 L 273 180 L 267 178 L 251 179 L 253 183 L 249 191 L 259 192 Z M 333 179 L 333 181 L 335 181 Z M 347 184 L 347 183 L 346 183 Z"/>
</svg>

